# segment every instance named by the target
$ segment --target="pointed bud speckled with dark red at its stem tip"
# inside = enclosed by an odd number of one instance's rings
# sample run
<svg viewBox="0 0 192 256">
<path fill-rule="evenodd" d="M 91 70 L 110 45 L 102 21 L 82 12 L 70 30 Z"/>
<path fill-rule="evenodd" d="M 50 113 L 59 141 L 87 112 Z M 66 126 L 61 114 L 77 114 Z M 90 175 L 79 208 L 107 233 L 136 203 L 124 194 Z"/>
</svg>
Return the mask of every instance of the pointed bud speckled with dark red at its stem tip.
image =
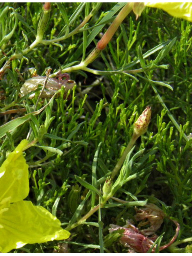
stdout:
<svg viewBox="0 0 192 256">
<path fill-rule="evenodd" d="M 139 137 L 147 131 L 150 119 L 151 119 L 151 107 L 148 106 L 139 116 L 138 120 L 134 123 L 135 136 Z"/>
</svg>

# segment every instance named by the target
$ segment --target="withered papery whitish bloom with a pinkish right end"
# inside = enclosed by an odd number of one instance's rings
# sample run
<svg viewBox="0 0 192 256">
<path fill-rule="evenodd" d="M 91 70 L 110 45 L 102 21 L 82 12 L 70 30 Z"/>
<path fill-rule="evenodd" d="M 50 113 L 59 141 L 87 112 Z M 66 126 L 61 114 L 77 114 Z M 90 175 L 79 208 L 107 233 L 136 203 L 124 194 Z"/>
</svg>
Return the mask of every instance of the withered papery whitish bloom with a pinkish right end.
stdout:
<svg viewBox="0 0 192 256">
<path fill-rule="evenodd" d="M 30 92 L 35 91 L 38 88 L 38 85 L 44 85 L 46 80 L 46 76 L 34 76 L 22 85 L 20 91 L 21 96 L 24 96 Z M 65 90 L 68 91 L 73 88 L 75 85 L 74 80 L 69 80 L 68 77 L 65 80 L 60 80 L 56 78 L 48 78 L 45 89 L 42 93 L 42 98 L 50 98 L 53 94 L 55 94 L 62 86 L 64 86 Z M 35 94 L 31 94 L 29 98 L 33 98 Z"/>
</svg>

